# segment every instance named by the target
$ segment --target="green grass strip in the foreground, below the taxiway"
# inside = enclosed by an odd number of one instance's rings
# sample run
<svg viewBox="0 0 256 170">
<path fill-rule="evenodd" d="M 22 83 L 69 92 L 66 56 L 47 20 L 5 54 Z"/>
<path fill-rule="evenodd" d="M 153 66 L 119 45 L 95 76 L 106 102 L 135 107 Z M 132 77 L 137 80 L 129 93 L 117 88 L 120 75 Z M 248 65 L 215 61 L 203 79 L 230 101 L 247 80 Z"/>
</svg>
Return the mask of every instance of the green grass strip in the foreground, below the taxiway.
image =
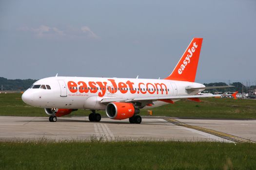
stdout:
<svg viewBox="0 0 256 170">
<path fill-rule="evenodd" d="M 0 142 L 0 169 L 255 170 L 256 144 Z"/>
</svg>

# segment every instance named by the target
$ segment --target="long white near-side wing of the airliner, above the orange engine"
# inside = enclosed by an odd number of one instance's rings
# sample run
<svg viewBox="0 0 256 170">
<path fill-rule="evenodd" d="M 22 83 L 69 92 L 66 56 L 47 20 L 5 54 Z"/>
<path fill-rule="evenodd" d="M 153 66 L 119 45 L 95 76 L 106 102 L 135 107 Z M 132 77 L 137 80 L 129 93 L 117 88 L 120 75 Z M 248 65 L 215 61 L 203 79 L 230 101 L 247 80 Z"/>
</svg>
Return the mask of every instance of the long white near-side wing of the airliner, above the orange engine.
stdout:
<svg viewBox="0 0 256 170">
<path fill-rule="evenodd" d="M 165 97 L 141 97 L 141 98 L 105 98 L 100 103 L 107 104 L 109 102 L 139 102 L 139 101 L 158 101 L 158 100 L 180 100 L 180 99 L 197 99 L 208 97 L 220 97 L 221 95 L 188 95 L 188 96 L 165 96 Z"/>
</svg>

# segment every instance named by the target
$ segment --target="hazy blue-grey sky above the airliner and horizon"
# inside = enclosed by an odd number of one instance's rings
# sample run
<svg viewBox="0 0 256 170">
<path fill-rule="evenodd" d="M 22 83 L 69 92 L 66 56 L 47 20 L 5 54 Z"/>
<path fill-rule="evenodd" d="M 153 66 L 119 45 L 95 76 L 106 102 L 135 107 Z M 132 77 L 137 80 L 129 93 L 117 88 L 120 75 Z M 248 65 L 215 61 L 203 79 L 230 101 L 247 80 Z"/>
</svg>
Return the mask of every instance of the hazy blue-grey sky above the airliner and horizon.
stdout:
<svg viewBox="0 0 256 170">
<path fill-rule="evenodd" d="M 193 37 L 196 82 L 256 84 L 255 0 L 1 0 L 0 77 L 165 78 Z"/>
</svg>

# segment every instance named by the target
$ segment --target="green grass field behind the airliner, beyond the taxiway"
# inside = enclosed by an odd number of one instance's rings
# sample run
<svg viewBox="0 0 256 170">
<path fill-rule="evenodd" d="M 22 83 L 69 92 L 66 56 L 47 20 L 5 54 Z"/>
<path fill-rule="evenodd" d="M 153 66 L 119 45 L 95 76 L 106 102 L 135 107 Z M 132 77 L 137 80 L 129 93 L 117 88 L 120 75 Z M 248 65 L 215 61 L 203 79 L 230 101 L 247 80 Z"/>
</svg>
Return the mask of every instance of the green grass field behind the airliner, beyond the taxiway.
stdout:
<svg viewBox="0 0 256 170">
<path fill-rule="evenodd" d="M 256 119 L 256 100 L 202 99 L 202 102 L 181 100 L 152 108 L 153 116 L 171 116 L 179 118 L 219 118 L 219 119 Z M 106 116 L 104 111 L 98 111 Z M 91 112 L 79 109 L 68 116 L 88 116 Z M 147 110 L 141 110 L 147 115 Z M 29 106 L 22 102 L 21 94 L 0 94 L 1 116 L 47 116 L 42 108 Z"/>
</svg>

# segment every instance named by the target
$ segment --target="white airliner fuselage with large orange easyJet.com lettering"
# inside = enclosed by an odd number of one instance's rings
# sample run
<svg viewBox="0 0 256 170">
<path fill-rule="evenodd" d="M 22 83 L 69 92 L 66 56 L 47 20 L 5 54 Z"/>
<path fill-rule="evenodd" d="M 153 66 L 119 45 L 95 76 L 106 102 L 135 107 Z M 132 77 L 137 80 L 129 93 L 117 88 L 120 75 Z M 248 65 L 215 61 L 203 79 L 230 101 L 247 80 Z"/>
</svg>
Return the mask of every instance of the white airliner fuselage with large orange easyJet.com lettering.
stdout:
<svg viewBox="0 0 256 170">
<path fill-rule="evenodd" d="M 184 81 L 95 77 L 49 77 L 40 79 L 34 85 L 38 86 L 27 89 L 22 95 L 22 100 L 29 105 L 90 110 L 104 110 L 106 105 L 100 103 L 104 98 L 186 96 L 203 91 L 200 89 L 189 93 L 186 87 L 204 87 L 202 84 Z M 48 86 L 44 88 L 39 85 Z M 51 89 L 48 89 L 49 86 Z M 164 104 L 168 103 L 155 101 L 152 106 L 145 105 L 143 108 Z"/>
</svg>

